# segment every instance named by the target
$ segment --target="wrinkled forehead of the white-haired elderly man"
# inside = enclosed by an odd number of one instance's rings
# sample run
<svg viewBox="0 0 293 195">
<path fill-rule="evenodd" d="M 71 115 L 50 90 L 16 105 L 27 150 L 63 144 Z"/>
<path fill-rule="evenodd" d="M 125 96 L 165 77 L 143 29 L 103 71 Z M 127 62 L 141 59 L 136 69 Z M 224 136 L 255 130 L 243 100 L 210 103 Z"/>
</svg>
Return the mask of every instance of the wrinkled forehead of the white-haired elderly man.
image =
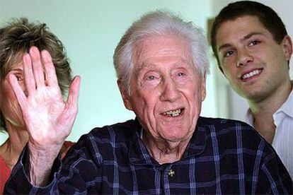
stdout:
<svg viewBox="0 0 293 195">
<path fill-rule="evenodd" d="M 168 57 L 191 60 L 188 41 L 176 35 L 152 35 L 134 48 L 134 61 L 139 66 Z"/>
</svg>

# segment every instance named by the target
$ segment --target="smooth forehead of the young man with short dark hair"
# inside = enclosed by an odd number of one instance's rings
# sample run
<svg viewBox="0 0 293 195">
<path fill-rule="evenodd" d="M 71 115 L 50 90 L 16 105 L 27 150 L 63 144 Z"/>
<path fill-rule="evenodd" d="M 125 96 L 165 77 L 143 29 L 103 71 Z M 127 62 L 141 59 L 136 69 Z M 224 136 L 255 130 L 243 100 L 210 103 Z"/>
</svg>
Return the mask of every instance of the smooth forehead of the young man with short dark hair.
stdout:
<svg viewBox="0 0 293 195">
<path fill-rule="evenodd" d="M 243 39 L 252 32 L 272 36 L 257 16 L 241 16 L 235 20 L 227 20 L 219 25 L 217 30 L 217 49 L 226 42 Z"/>
</svg>

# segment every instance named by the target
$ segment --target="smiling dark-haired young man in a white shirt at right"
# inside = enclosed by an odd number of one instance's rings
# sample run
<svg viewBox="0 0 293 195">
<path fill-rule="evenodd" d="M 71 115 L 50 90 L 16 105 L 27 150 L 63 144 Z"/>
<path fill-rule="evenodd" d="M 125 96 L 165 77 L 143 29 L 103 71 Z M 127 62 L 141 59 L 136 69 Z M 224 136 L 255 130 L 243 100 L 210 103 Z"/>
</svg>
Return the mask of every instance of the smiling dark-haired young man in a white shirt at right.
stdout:
<svg viewBox="0 0 293 195">
<path fill-rule="evenodd" d="M 229 4 L 215 18 L 212 49 L 231 87 L 248 100 L 247 122 L 277 151 L 293 177 L 292 40 L 272 8 Z"/>
</svg>

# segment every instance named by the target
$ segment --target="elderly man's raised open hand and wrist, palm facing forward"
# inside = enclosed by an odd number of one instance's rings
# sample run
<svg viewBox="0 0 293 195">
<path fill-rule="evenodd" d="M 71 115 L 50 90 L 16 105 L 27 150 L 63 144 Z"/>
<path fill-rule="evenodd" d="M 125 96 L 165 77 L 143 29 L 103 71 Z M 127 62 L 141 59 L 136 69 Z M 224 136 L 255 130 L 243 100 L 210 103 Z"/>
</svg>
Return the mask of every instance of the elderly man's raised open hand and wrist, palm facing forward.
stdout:
<svg viewBox="0 0 293 195">
<path fill-rule="evenodd" d="M 43 184 L 44 181 L 39 177 L 47 176 L 50 165 L 74 124 L 78 110 L 80 78 L 74 78 L 69 87 L 67 102 L 64 102 L 52 58 L 49 52 L 39 52 L 37 47 L 31 47 L 29 54 L 23 55 L 23 73 L 25 92 L 18 84 L 16 76 L 11 74 L 9 81 L 29 134 L 28 147 L 33 170 L 30 177 L 33 180 L 38 177 L 33 183 Z M 46 165 L 42 165 L 43 163 Z M 39 174 L 40 169 L 46 173 L 41 171 Z M 35 172 L 37 175 L 34 175 Z"/>
</svg>

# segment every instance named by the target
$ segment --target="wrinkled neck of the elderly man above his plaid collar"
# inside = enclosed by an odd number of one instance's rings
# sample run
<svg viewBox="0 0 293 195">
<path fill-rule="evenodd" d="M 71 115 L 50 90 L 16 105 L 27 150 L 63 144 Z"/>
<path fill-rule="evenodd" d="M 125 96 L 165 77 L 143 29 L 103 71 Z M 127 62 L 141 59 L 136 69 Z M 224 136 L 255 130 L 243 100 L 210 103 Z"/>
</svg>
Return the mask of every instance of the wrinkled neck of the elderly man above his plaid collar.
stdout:
<svg viewBox="0 0 293 195">
<path fill-rule="evenodd" d="M 151 156 L 162 165 L 164 163 L 172 163 L 180 160 L 188 146 L 190 138 L 184 141 L 171 142 L 154 139 L 150 134 L 146 133 L 144 134 L 142 141 L 147 150 L 149 150 Z"/>
</svg>

